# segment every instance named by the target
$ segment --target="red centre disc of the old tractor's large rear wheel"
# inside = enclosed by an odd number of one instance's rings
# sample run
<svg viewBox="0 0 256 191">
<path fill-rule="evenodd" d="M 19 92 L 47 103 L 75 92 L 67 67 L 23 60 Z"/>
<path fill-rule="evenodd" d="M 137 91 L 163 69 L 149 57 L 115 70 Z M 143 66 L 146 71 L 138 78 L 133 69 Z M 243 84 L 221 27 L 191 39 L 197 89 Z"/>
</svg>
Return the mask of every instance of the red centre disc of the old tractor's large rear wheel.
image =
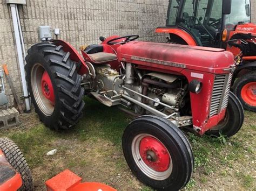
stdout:
<svg viewBox="0 0 256 191">
<path fill-rule="evenodd" d="M 49 74 L 44 71 L 41 79 L 41 87 L 44 96 L 54 105 L 55 95 Z"/>
</svg>

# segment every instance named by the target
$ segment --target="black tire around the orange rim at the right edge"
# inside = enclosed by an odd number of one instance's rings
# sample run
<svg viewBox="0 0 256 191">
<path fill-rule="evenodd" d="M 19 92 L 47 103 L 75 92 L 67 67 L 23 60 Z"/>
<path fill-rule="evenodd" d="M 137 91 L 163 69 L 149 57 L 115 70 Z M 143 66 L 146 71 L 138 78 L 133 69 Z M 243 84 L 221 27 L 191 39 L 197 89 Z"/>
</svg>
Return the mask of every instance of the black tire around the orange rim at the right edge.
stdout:
<svg viewBox="0 0 256 191">
<path fill-rule="evenodd" d="M 237 95 L 237 97 L 241 101 L 242 106 L 244 107 L 245 110 L 256 112 L 256 106 L 250 104 L 250 102 L 247 103 L 244 100 L 244 98 L 242 98 L 242 95 L 241 95 L 242 88 L 245 87 L 246 84 L 251 83 L 251 82 L 256 83 L 256 72 L 255 71 L 248 73 L 248 74 L 240 77 L 237 81 L 235 81 L 234 86 L 233 86 L 233 91 L 234 91 L 234 94 Z M 255 101 L 255 104 L 256 104 L 256 101 Z"/>
</svg>

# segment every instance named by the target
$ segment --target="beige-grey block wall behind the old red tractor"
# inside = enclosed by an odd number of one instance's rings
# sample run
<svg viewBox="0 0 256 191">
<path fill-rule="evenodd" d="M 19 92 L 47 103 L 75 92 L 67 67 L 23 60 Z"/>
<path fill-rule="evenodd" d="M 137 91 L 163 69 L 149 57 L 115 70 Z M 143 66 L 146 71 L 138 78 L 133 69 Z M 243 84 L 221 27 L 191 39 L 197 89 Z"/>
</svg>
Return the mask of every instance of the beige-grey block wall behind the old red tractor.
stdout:
<svg viewBox="0 0 256 191">
<path fill-rule="evenodd" d="M 241 0 L 242 1 L 242 0 Z M 7 63 L 18 96 L 21 80 L 13 34 L 10 7 L 0 0 L 0 65 Z M 168 0 L 26 0 L 19 5 L 25 49 L 39 42 L 38 26 L 60 29 L 60 37 L 77 49 L 80 45 L 98 43 L 99 36 L 139 34 L 140 40 L 163 41 L 154 32 L 165 25 Z M 252 18 L 256 22 L 256 2 L 252 0 Z M 53 36 L 52 36 L 53 37 Z M 1 66 L 0 66 L 1 67 Z M 2 67 L 1 67 L 2 68 Z M 5 82 L 5 86 L 9 87 Z M 9 88 L 6 94 L 13 96 Z"/>
</svg>

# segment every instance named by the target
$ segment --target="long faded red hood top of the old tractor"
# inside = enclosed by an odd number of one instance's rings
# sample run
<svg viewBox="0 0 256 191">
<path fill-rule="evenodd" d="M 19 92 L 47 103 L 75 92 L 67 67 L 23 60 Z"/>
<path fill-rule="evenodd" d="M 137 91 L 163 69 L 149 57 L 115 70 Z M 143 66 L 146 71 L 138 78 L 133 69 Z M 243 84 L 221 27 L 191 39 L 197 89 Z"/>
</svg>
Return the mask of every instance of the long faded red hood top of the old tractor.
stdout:
<svg viewBox="0 0 256 191">
<path fill-rule="evenodd" d="M 119 61 L 180 72 L 193 69 L 213 74 L 230 71 L 232 53 L 224 49 L 133 41 L 118 47 Z M 225 70 L 224 70 L 225 69 Z"/>
</svg>

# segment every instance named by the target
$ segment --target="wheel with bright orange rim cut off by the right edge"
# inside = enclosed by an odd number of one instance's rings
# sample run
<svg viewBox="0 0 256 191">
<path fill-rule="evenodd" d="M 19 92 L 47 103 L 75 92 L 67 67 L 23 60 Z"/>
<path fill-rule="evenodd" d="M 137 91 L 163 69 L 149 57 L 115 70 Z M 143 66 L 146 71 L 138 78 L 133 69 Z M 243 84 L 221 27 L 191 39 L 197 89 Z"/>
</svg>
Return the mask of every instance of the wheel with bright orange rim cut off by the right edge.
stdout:
<svg viewBox="0 0 256 191">
<path fill-rule="evenodd" d="M 240 77 L 233 87 L 244 109 L 256 112 L 256 72 Z"/>
</svg>

